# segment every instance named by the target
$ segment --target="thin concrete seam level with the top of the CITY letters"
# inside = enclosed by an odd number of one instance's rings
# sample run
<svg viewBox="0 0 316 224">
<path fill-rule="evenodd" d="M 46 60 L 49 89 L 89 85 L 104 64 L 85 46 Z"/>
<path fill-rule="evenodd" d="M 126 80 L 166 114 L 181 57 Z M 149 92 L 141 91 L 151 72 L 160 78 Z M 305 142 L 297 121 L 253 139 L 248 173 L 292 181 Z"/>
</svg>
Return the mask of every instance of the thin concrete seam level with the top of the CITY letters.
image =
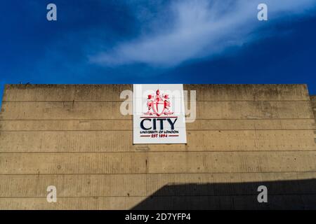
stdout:
<svg viewBox="0 0 316 224">
<path fill-rule="evenodd" d="M 129 115 L 132 116 L 132 115 Z M 133 118 L 129 119 L 117 119 L 117 118 L 72 118 L 72 119 L 0 119 L 1 120 L 11 120 L 11 121 L 42 121 L 42 120 L 60 120 L 60 121 L 69 121 L 69 120 L 126 120 L 133 121 Z M 192 119 L 186 119 L 192 120 Z M 195 120 L 315 120 L 315 118 L 197 118 Z"/>
</svg>

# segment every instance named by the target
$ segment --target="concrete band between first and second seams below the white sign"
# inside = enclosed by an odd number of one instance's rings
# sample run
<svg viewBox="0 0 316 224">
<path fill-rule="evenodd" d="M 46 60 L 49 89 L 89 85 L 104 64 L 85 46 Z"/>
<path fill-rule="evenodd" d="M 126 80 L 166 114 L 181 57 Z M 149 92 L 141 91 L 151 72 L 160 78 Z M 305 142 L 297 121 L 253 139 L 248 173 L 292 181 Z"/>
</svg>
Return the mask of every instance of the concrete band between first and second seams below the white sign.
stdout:
<svg viewBox="0 0 316 224">
<path fill-rule="evenodd" d="M 316 151 L 188 153 L 1 153 L 0 174 L 308 172 Z"/>
</svg>

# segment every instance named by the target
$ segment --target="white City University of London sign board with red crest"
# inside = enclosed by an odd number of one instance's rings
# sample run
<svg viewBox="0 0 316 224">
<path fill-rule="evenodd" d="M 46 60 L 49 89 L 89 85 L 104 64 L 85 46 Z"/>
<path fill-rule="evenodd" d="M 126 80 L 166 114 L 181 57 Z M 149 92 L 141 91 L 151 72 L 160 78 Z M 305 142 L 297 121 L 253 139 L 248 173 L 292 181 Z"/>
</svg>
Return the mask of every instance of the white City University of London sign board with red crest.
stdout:
<svg viewBox="0 0 316 224">
<path fill-rule="evenodd" d="M 186 144 L 182 84 L 133 85 L 133 144 Z"/>
</svg>

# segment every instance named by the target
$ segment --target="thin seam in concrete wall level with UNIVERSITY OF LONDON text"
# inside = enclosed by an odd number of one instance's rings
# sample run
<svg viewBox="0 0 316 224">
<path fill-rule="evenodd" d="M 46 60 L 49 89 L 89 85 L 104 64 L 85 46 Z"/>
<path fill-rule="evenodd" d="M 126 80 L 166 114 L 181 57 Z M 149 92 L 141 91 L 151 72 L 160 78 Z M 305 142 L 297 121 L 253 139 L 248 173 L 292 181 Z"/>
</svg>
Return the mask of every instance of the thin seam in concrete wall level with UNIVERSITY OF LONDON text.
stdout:
<svg viewBox="0 0 316 224">
<path fill-rule="evenodd" d="M 204 132 L 204 131 L 315 131 L 314 128 L 306 129 L 187 129 L 187 132 Z M 133 130 L 0 130 L 0 132 L 133 132 Z"/>
</svg>

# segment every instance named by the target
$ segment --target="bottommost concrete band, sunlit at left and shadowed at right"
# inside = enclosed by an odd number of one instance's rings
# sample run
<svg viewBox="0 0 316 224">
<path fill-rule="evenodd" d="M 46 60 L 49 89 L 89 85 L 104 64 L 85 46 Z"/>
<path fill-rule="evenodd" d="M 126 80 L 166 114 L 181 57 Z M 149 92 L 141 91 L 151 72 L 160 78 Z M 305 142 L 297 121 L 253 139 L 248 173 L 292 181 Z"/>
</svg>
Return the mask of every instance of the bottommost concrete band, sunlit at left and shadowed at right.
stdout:
<svg viewBox="0 0 316 224">
<path fill-rule="evenodd" d="M 315 195 L 271 195 L 259 204 L 257 195 L 175 196 L 175 197 L 60 197 L 57 203 L 46 198 L 4 198 L 0 209 L 315 209 Z M 149 200 L 145 206 L 142 202 Z"/>
</svg>

